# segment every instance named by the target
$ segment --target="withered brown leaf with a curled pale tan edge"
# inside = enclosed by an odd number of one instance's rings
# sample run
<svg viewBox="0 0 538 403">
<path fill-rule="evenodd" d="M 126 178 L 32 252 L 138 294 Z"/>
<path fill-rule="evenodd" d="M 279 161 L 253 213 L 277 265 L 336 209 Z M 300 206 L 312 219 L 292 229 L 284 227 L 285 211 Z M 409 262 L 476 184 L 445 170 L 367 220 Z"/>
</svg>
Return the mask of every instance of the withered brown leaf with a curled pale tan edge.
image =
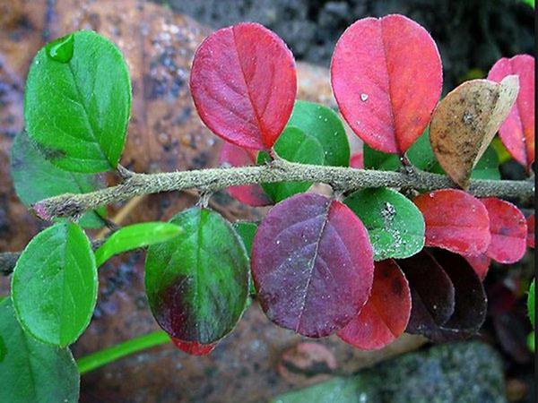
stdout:
<svg viewBox="0 0 538 403">
<path fill-rule="evenodd" d="M 513 75 L 500 83 L 472 80 L 439 102 L 430 124 L 431 148 L 441 167 L 460 187 L 469 186 L 473 167 L 508 116 L 518 90 Z"/>
</svg>

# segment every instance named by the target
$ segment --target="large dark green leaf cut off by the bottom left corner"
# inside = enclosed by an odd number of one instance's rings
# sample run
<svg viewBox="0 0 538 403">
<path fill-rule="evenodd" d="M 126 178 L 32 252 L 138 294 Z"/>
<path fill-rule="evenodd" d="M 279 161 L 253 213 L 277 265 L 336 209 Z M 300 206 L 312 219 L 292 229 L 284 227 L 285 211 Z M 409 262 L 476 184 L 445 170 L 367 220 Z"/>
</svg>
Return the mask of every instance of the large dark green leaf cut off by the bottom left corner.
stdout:
<svg viewBox="0 0 538 403">
<path fill-rule="evenodd" d="M 40 343 L 22 331 L 10 298 L 0 303 L 0 401 L 77 402 L 79 373 L 67 348 Z"/>
</svg>

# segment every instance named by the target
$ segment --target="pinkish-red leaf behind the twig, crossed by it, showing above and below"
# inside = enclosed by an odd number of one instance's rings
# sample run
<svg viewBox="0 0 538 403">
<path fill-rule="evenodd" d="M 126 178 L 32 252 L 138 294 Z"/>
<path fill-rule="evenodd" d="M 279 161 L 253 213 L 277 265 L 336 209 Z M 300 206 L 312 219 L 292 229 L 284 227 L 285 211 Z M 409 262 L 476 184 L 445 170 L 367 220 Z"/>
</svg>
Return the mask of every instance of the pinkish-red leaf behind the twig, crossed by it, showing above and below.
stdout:
<svg viewBox="0 0 538 403">
<path fill-rule="evenodd" d="M 219 157 L 221 165 L 229 164 L 231 167 L 247 167 L 256 165 L 256 151 L 242 149 L 230 142 L 224 142 Z M 264 189 L 259 184 L 245 184 L 242 186 L 230 186 L 230 196 L 249 206 L 260 207 L 272 204 Z"/>
</svg>

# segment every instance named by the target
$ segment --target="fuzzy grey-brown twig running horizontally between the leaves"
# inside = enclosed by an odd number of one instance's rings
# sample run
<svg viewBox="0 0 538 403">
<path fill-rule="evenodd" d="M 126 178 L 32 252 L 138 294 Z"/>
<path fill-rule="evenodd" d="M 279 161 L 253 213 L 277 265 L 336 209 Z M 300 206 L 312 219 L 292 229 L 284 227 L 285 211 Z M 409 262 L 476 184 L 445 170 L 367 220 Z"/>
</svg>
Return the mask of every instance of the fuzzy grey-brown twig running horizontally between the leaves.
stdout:
<svg viewBox="0 0 538 403">
<path fill-rule="evenodd" d="M 447 176 L 413 171 L 374 171 L 350 167 L 321 167 L 297 164 L 283 159 L 258 167 L 210 168 L 160 174 L 133 174 L 122 184 L 92 193 L 52 197 L 32 207 L 41 219 L 74 217 L 86 210 L 94 210 L 111 203 L 127 201 L 135 196 L 151 193 L 198 189 L 214 192 L 240 184 L 262 184 L 282 181 L 330 184 L 339 191 L 367 187 L 395 187 L 432 191 L 457 187 Z M 468 192 L 480 197 L 496 196 L 508 199 L 529 200 L 534 195 L 534 181 L 473 180 Z"/>
</svg>

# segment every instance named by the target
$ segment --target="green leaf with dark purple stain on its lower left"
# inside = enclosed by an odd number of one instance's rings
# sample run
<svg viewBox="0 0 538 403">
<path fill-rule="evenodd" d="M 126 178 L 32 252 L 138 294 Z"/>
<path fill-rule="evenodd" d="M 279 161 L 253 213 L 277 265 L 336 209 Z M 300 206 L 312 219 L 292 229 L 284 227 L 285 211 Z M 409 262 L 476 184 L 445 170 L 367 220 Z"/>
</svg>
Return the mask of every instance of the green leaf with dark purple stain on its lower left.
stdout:
<svg viewBox="0 0 538 403">
<path fill-rule="evenodd" d="M 170 336 L 212 344 L 239 321 L 248 296 L 248 258 L 220 214 L 195 207 L 170 220 L 183 229 L 150 246 L 145 288 L 153 316 Z"/>
</svg>

